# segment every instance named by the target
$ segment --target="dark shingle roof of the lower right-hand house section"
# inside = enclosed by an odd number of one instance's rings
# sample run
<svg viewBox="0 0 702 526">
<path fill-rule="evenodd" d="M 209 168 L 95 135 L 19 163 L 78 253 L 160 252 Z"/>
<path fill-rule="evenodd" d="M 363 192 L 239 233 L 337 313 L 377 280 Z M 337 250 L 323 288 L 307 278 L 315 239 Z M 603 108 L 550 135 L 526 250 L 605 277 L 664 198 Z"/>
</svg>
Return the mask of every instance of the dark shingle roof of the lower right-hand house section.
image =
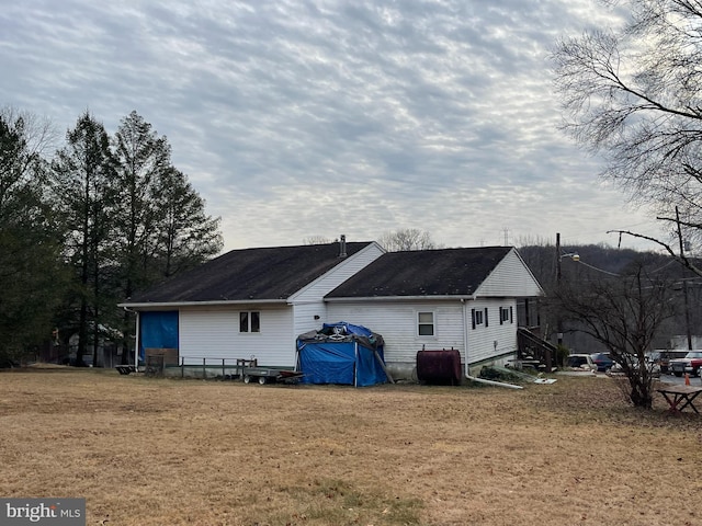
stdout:
<svg viewBox="0 0 702 526">
<path fill-rule="evenodd" d="M 389 252 L 326 297 L 472 295 L 510 250 L 486 247 Z"/>
</svg>

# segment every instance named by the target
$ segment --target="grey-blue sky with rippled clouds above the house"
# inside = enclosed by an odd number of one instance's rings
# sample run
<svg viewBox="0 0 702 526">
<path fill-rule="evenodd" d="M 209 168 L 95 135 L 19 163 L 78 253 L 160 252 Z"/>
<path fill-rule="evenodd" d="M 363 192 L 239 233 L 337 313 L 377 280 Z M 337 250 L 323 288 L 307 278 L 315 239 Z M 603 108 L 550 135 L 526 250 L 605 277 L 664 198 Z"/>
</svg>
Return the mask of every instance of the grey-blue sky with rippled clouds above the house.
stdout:
<svg viewBox="0 0 702 526">
<path fill-rule="evenodd" d="M 548 54 L 595 0 L 0 0 L 0 105 L 135 110 L 227 250 L 415 228 L 446 247 L 660 236 L 559 129 Z M 653 248 L 629 238 L 622 247 Z"/>
</svg>

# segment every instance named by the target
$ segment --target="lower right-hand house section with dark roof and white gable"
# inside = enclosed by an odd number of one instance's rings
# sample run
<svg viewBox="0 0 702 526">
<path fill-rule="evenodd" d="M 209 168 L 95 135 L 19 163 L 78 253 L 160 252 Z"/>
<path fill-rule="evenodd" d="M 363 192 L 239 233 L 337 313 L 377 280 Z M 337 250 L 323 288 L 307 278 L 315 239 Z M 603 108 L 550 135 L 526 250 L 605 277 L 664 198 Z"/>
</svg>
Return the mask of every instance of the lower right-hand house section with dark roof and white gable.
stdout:
<svg viewBox="0 0 702 526">
<path fill-rule="evenodd" d="M 466 374 L 513 358 L 518 301 L 542 295 L 514 248 L 487 247 L 386 253 L 325 300 L 329 319 L 382 334 L 388 367 L 407 376 L 421 350 L 457 350 Z"/>
</svg>

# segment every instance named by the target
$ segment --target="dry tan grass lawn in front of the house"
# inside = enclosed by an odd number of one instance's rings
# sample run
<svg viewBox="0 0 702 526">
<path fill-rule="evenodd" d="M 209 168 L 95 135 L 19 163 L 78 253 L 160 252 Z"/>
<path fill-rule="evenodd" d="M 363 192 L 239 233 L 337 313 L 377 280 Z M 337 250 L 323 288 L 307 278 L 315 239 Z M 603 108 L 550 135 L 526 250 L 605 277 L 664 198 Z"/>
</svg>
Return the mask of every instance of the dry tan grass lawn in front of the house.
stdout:
<svg viewBox="0 0 702 526">
<path fill-rule="evenodd" d="M 87 524 L 110 526 L 700 525 L 702 416 L 666 409 L 635 410 L 601 378 L 353 389 L 2 371 L 0 496 L 84 496 Z"/>
</svg>

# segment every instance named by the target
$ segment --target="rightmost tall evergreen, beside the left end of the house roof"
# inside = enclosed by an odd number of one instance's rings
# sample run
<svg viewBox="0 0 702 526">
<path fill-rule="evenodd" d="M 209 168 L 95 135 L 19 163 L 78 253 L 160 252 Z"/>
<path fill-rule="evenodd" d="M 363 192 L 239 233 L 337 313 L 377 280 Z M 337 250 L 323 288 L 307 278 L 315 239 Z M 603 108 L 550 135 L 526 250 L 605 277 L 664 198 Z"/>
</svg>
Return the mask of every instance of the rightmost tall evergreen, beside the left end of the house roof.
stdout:
<svg viewBox="0 0 702 526">
<path fill-rule="evenodd" d="M 205 214 L 204 201 L 171 164 L 166 137 L 132 112 L 112 144 L 118 195 L 113 249 L 125 299 L 217 254 L 223 242 L 219 219 Z M 123 334 L 134 329 L 134 319 L 123 312 Z M 122 356 L 126 362 L 127 353 Z"/>
</svg>

